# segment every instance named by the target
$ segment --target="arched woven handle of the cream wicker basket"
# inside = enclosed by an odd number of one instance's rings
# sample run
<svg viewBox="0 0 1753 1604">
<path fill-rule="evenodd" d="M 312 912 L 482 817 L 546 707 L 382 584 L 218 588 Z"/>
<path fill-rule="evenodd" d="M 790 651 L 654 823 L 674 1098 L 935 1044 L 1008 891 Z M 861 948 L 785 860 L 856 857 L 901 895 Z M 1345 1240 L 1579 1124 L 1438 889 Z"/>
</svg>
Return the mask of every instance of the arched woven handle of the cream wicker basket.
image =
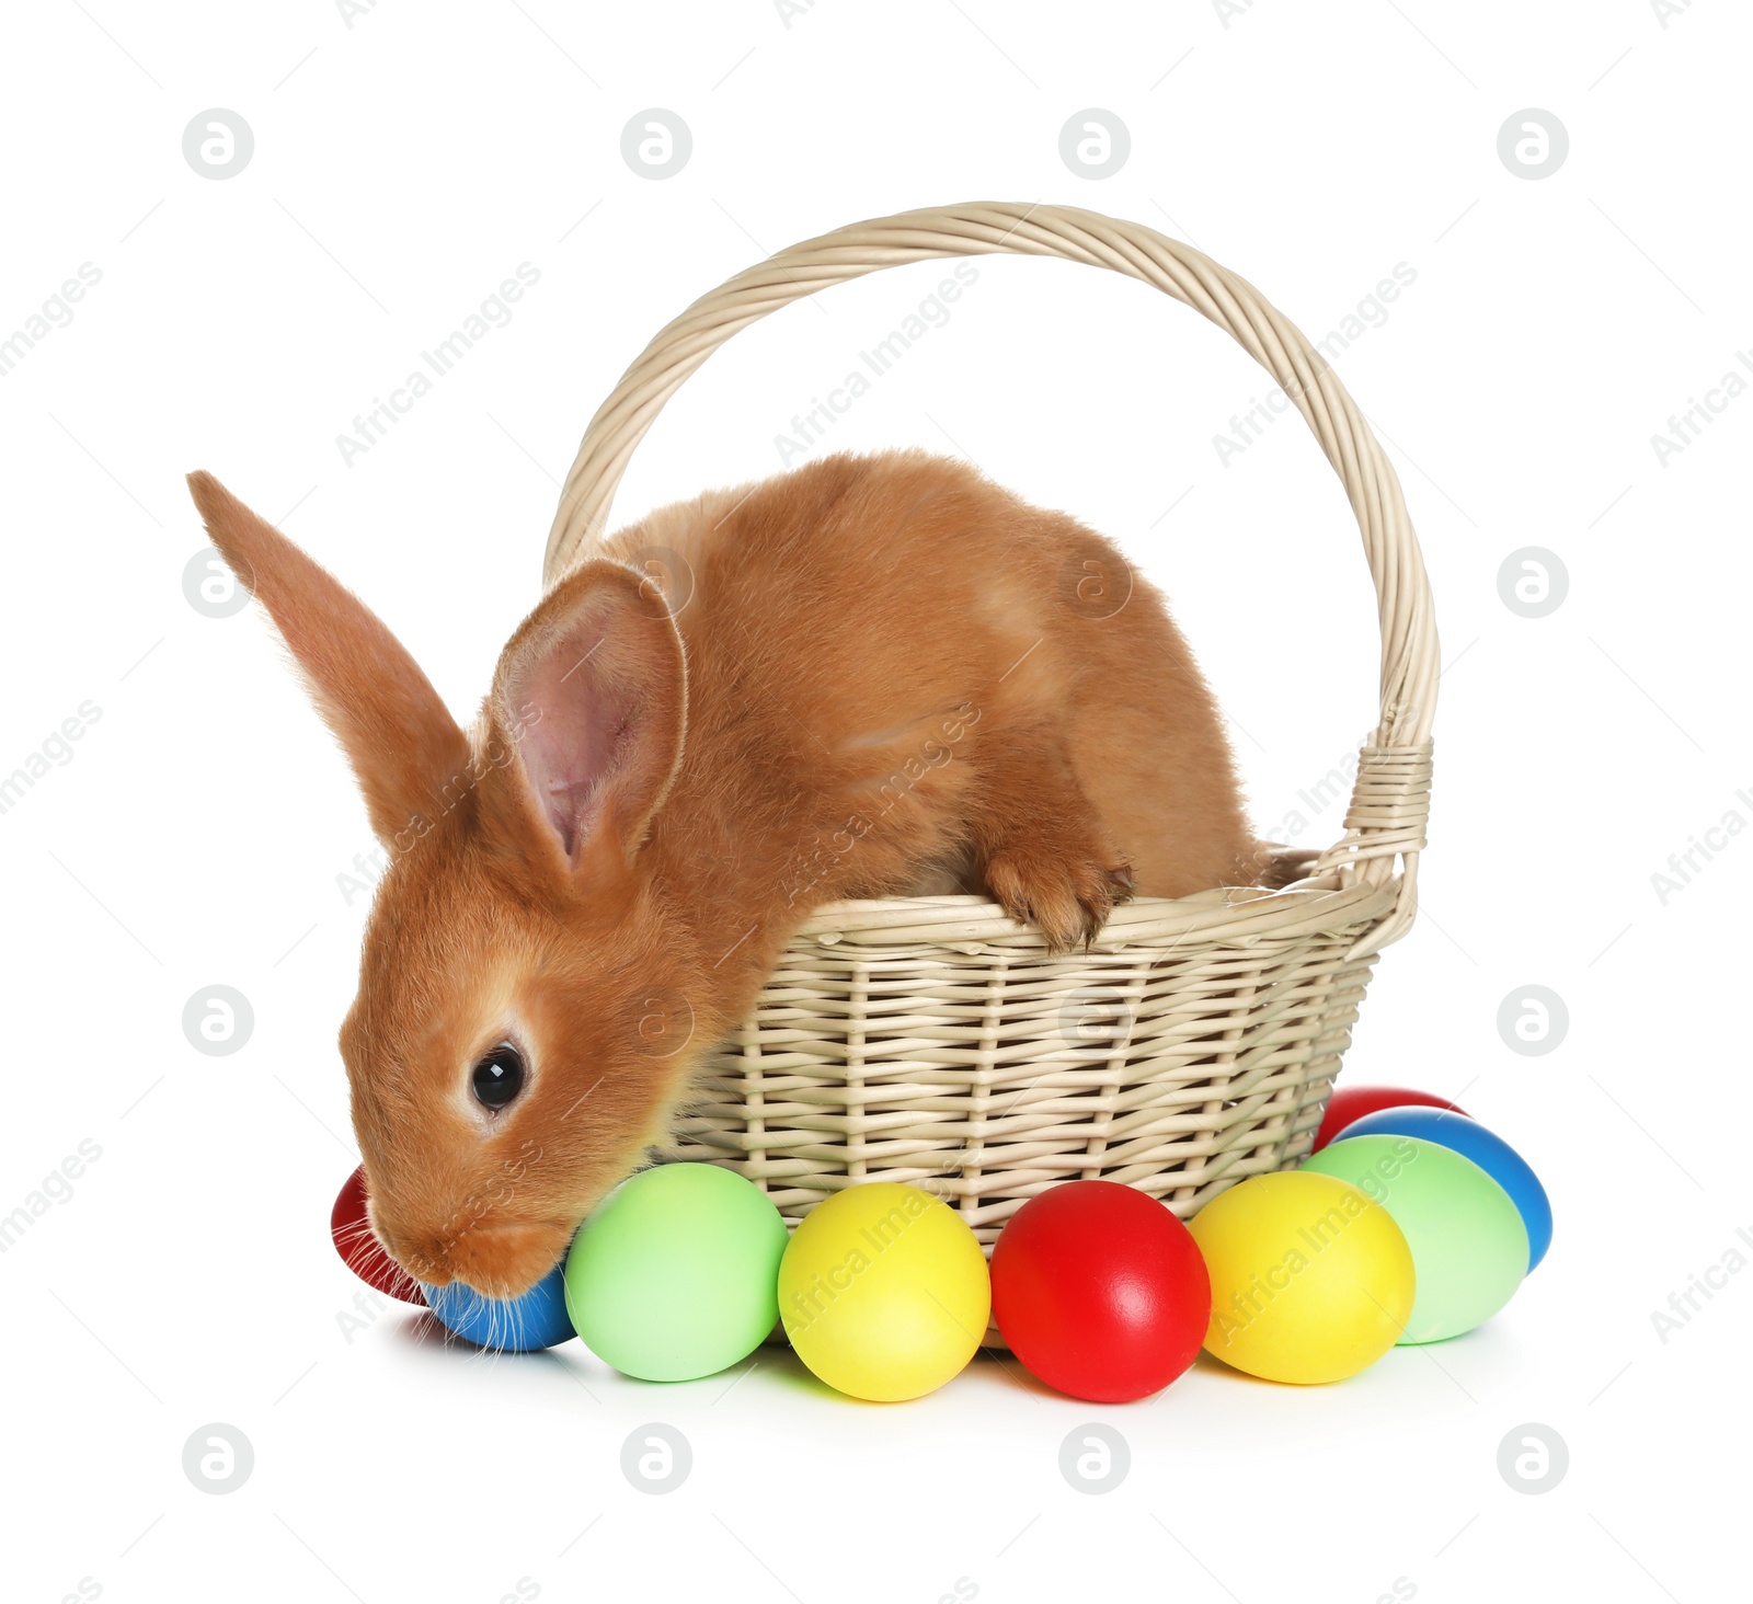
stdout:
<svg viewBox="0 0 1753 1604">
<path fill-rule="evenodd" d="M 1381 719 L 1366 742 L 1345 836 L 1317 862 L 1339 884 L 1380 884 L 1404 861 L 1394 912 L 1360 943 L 1406 933 L 1430 805 L 1430 722 L 1437 640 L 1418 540 L 1394 466 L 1345 386 L 1287 317 L 1245 279 L 1141 223 L 1076 207 L 975 202 L 852 223 L 727 279 L 666 324 L 621 377 L 584 431 L 549 533 L 543 578 L 554 584 L 607 529 L 633 449 L 664 401 L 738 330 L 805 295 L 878 268 L 943 256 L 1059 256 L 1127 273 L 1173 295 L 1266 368 L 1315 431 L 1364 536 L 1381 626 Z"/>
</svg>

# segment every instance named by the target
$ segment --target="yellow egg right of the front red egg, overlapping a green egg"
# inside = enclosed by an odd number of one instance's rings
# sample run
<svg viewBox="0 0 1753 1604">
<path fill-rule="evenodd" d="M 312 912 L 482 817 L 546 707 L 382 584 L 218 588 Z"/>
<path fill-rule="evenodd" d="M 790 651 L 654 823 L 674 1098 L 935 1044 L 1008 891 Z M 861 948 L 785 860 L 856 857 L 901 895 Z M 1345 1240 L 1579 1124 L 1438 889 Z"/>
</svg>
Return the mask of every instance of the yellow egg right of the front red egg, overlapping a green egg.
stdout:
<svg viewBox="0 0 1753 1604">
<path fill-rule="evenodd" d="M 1413 1255 L 1394 1217 L 1311 1169 L 1257 1175 L 1189 1222 L 1211 1274 L 1206 1352 L 1269 1381 L 1339 1381 L 1404 1334 Z"/>
</svg>

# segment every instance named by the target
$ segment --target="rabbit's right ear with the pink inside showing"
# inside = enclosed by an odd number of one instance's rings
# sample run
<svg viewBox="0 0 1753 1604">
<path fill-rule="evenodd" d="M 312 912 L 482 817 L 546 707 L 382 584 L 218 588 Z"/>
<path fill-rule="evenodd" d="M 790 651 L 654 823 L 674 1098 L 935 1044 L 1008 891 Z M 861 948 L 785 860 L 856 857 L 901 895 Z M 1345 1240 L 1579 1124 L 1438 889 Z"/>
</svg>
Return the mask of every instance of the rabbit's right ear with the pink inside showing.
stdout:
<svg viewBox="0 0 1753 1604">
<path fill-rule="evenodd" d="M 570 573 L 507 645 L 493 712 L 568 862 L 629 862 L 682 766 L 687 726 L 682 636 L 663 593 L 607 559 Z"/>
</svg>

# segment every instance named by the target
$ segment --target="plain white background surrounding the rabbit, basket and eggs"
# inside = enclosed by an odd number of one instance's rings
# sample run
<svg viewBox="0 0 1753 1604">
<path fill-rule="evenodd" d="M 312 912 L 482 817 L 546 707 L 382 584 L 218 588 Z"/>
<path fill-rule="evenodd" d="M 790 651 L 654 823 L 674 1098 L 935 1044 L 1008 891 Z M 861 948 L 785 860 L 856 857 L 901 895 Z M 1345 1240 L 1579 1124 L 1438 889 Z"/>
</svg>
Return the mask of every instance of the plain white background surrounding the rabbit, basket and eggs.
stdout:
<svg viewBox="0 0 1753 1604">
<path fill-rule="evenodd" d="M 808 1604 L 957 1583 L 1725 1595 L 1753 1274 L 1720 1273 L 1665 1341 L 1651 1313 L 1753 1229 L 1753 840 L 1720 836 L 1665 903 L 1651 875 L 1727 812 L 1753 820 L 1735 794 L 1753 787 L 1753 398 L 1665 466 L 1651 435 L 1753 345 L 1753 19 L 1728 0 L 1667 26 L 1646 0 L 1232 11 L 12 12 L 0 335 L 81 263 L 102 280 L 0 380 L 0 771 L 81 703 L 102 715 L 0 815 L 0 1213 L 82 1139 L 102 1157 L 0 1257 L 9 1599 L 81 1579 L 105 1599 L 368 1604 L 493 1604 L 521 1579 L 524 1597 Z M 254 131 L 226 181 L 181 149 L 212 107 Z M 663 181 L 621 158 L 647 107 L 692 131 Z M 1059 154 L 1090 107 L 1131 133 L 1101 181 Z M 1539 181 L 1497 153 L 1530 107 L 1571 140 Z M 1406 486 L 1446 664 L 1423 912 L 1346 1078 L 1457 1096 L 1516 1141 L 1555 1199 L 1551 1257 L 1488 1327 L 1352 1383 L 1201 1362 L 1129 1408 L 990 1360 L 876 1408 L 771 1352 L 743 1380 L 659 1388 L 578 1345 L 445 1352 L 401 1311 L 349 1341 L 356 1283 L 326 1215 L 356 1162 L 335 1029 L 365 899 L 337 875 L 372 841 L 256 612 L 184 600 L 203 536 L 182 475 L 209 468 L 282 521 L 466 717 L 536 600 L 584 422 L 661 323 L 792 240 L 987 198 L 1189 238 L 1313 338 L 1415 270 L 1338 359 Z M 337 435 L 524 261 L 540 282 L 515 319 L 349 466 Z M 834 444 L 961 452 L 1117 536 L 1169 591 L 1274 826 L 1374 719 L 1373 601 L 1331 470 L 1294 419 L 1220 465 L 1213 435 L 1264 379 L 1183 307 L 1071 265 L 978 272 Z M 777 470 L 792 414 L 938 277 L 880 273 L 743 333 L 670 405 L 617 521 Z M 1569 573 L 1541 619 L 1497 587 L 1529 545 Z M 256 1015 L 231 1057 L 181 1029 L 214 983 Z M 1530 983 L 1571 1017 L 1543 1057 L 1495 1024 Z M 1059 1473 L 1089 1420 L 1131 1446 L 1106 1495 Z M 254 1448 L 224 1497 L 181 1467 L 209 1422 Z M 619 1469 L 647 1422 L 692 1446 L 664 1497 Z M 1497 1469 L 1529 1422 L 1569 1446 L 1543 1495 Z"/>
</svg>

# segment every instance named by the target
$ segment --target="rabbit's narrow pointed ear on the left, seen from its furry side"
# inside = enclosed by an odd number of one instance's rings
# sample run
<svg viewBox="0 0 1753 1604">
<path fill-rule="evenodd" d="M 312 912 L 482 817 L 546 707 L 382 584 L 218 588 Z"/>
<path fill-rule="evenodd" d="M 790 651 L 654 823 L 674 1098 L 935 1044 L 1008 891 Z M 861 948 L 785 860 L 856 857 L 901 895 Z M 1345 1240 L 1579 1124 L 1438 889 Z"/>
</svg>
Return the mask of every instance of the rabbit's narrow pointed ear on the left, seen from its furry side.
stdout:
<svg viewBox="0 0 1753 1604">
<path fill-rule="evenodd" d="M 207 535 L 270 617 L 352 761 L 372 831 L 405 840 L 468 789 L 468 740 L 382 621 L 210 473 L 189 475 Z"/>
</svg>

